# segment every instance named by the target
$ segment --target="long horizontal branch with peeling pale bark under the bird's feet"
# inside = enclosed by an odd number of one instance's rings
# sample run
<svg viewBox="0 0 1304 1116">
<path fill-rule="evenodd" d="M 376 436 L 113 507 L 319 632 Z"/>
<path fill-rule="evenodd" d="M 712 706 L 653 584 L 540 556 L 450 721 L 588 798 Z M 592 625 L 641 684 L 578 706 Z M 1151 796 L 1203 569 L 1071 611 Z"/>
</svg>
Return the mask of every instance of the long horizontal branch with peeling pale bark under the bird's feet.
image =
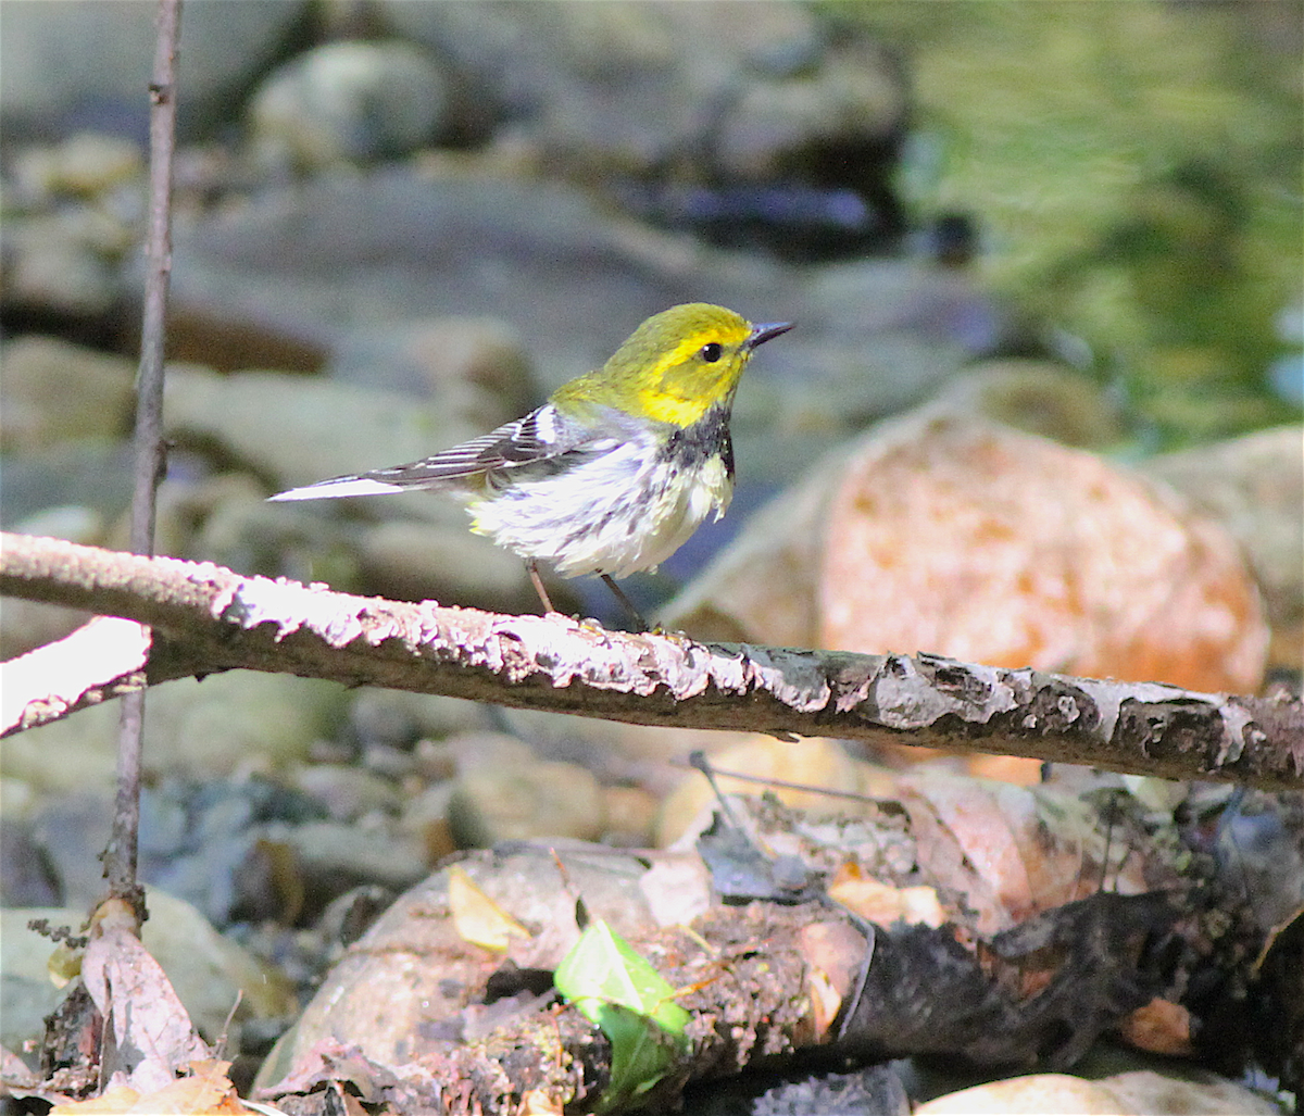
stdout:
<svg viewBox="0 0 1304 1116">
<path fill-rule="evenodd" d="M 31 536 L 0 536 L 0 555 L 5 595 L 149 624 L 151 684 L 241 668 L 632 724 L 842 737 L 1304 787 L 1299 700 L 930 654 L 629 635 L 559 615 L 357 597 Z M 5 731 L 50 720 L 52 707 L 29 704 L 44 696 L 23 695 L 23 713 Z"/>
</svg>

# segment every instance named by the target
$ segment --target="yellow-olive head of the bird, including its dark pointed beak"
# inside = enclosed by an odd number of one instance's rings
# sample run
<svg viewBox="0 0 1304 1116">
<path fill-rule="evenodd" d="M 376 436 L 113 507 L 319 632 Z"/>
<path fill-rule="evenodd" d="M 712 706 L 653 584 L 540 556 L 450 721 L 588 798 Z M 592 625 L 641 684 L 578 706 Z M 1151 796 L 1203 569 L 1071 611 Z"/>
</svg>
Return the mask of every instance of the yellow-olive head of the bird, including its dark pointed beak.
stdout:
<svg viewBox="0 0 1304 1116">
<path fill-rule="evenodd" d="M 553 402 L 691 426 L 712 407 L 729 405 L 756 345 L 790 329 L 754 326 L 709 302 L 672 306 L 639 326 L 602 368 L 559 387 Z"/>
</svg>

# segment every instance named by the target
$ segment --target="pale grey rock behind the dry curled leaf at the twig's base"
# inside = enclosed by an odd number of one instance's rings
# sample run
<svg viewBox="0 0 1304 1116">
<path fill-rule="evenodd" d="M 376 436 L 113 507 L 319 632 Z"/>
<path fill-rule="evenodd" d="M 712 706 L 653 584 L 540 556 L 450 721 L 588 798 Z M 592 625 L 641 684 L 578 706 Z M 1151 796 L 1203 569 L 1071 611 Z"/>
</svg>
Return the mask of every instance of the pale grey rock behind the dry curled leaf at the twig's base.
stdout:
<svg viewBox="0 0 1304 1116">
<path fill-rule="evenodd" d="M 274 969 L 219 935 L 189 903 L 146 889 L 149 920 L 142 931 L 145 948 L 163 966 L 192 1021 L 209 1042 L 233 1021 L 232 1046 L 239 1050 L 239 1029 L 249 1020 L 287 1016 L 295 1010 L 293 990 Z M 0 970 L 4 1014 L 0 1042 L 22 1050 L 39 1038 L 43 1018 L 63 999 L 50 980 L 46 961 L 53 943 L 27 928 L 33 919 L 74 930 L 86 919 L 82 907 L 13 907 L 0 911 Z M 232 1009 L 233 1013 L 232 1013 Z"/>
</svg>

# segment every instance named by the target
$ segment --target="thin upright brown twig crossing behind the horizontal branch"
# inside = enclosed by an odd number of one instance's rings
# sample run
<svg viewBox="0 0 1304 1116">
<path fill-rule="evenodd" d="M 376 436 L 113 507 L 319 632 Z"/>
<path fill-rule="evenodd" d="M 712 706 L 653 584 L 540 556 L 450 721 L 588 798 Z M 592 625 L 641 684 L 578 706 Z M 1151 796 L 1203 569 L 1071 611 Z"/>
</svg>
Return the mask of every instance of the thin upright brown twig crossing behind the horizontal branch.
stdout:
<svg viewBox="0 0 1304 1116">
<path fill-rule="evenodd" d="M 154 72 L 150 78 L 150 210 L 145 241 L 145 308 L 141 364 L 136 375 L 134 486 L 130 548 L 154 551 L 155 490 L 166 468 L 163 445 L 163 343 L 172 275 L 172 155 L 176 146 L 176 52 L 181 0 L 158 0 Z M 104 849 L 111 896 L 128 900 L 143 918 L 136 880 L 141 820 L 141 746 L 145 690 L 123 699 L 117 739 L 117 797 L 113 828 Z"/>
</svg>

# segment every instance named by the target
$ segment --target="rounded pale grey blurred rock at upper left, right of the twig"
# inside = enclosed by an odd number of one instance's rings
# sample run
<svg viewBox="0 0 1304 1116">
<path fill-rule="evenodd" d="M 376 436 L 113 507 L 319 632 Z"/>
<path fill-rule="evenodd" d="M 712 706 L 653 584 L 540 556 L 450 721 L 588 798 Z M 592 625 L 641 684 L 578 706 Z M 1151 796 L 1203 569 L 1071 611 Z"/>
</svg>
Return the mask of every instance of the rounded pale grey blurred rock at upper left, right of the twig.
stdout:
<svg viewBox="0 0 1304 1116">
<path fill-rule="evenodd" d="M 446 81 L 434 59 L 398 40 L 313 47 L 254 93 L 252 142 L 273 166 L 399 158 L 445 130 Z"/>
</svg>

